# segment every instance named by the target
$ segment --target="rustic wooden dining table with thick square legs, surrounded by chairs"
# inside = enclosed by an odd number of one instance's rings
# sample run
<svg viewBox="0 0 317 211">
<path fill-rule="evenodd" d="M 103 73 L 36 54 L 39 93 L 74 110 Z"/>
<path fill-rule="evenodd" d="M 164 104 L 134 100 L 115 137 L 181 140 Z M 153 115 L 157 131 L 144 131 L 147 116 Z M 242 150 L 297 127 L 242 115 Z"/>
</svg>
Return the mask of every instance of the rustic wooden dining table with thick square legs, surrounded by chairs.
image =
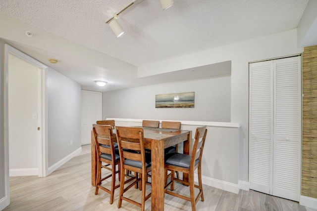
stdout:
<svg viewBox="0 0 317 211">
<path fill-rule="evenodd" d="M 144 147 L 151 149 L 152 155 L 152 211 L 164 210 L 164 186 L 165 186 L 165 170 L 164 170 L 164 149 L 178 143 L 184 143 L 183 153 L 189 155 L 192 150 L 192 131 L 178 130 L 166 128 L 143 127 L 144 131 Z M 112 139 L 116 141 L 115 134 Z M 92 133 L 91 142 L 92 156 L 92 186 L 96 185 L 97 173 L 97 154 L 95 149 L 95 141 Z M 183 180 L 188 181 L 188 174 L 183 175 Z"/>
</svg>

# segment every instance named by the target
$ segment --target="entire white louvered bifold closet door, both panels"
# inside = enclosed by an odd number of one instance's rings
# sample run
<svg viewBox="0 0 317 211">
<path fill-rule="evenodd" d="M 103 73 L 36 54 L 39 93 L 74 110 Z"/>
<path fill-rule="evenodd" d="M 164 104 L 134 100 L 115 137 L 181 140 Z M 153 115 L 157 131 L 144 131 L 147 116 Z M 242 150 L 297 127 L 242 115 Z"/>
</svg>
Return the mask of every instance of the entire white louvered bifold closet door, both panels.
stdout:
<svg viewBox="0 0 317 211">
<path fill-rule="evenodd" d="M 250 189 L 299 201 L 301 57 L 251 63 Z"/>
</svg>

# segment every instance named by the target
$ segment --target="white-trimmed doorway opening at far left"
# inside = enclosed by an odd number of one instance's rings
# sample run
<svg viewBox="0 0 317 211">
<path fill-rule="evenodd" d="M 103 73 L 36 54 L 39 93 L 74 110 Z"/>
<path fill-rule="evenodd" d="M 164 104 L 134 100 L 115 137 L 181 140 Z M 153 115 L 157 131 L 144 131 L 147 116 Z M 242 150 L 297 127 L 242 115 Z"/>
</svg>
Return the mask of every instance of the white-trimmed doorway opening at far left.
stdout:
<svg viewBox="0 0 317 211">
<path fill-rule="evenodd" d="M 17 65 L 19 63 L 19 65 Z M 21 66 L 22 65 L 22 66 Z M 32 69 L 32 70 L 31 70 Z M 19 71 L 24 71 L 24 73 Z M 16 72 L 17 71 L 17 72 Z M 9 176 L 11 175 L 38 175 L 46 176 L 48 172 L 48 138 L 47 138 L 47 71 L 48 67 L 23 52 L 5 44 L 4 59 L 4 144 L 5 144 L 5 189 L 6 196 L 9 199 Z M 23 74 L 22 77 L 19 76 Z M 16 75 L 16 76 L 14 76 Z M 11 77 L 11 79 L 10 79 Z M 14 79 L 14 81 L 13 81 Z M 16 81 L 18 79 L 18 81 Z M 28 83 L 25 83 L 27 82 Z M 35 83 L 35 84 L 34 84 Z M 24 85 L 21 85 L 24 84 Z M 33 87 L 30 87 L 33 84 Z M 34 93 L 36 92 L 36 93 Z M 31 96 L 33 95 L 33 96 Z M 32 101 L 32 102 L 28 102 Z M 22 105 L 21 105 L 22 104 Z M 23 112 L 25 110 L 25 112 Z M 20 122 L 19 122 L 20 120 Z M 26 124 L 32 129 L 27 128 Z M 14 133 L 22 128 L 27 128 L 22 137 L 15 136 Z M 14 131 L 15 130 L 15 131 Z M 31 131 L 35 130 L 35 131 Z M 31 137 L 31 141 L 26 137 Z M 10 139 L 15 139 L 10 145 Z M 35 139 L 35 140 L 34 140 Z M 20 144 L 18 141 L 21 141 Z M 23 143 L 22 143 L 23 141 Z M 30 142 L 30 143 L 28 143 Z M 25 146 L 24 146 L 25 145 Z M 31 147 L 28 149 L 27 147 Z M 10 170 L 10 165 L 18 164 L 14 158 L 9 155 L 12 151 L 15 153 L 24 152 L 24 155 L 31 151 L 28 163 L 32 163 L 30 168 L 20 169 L 19 166 Z M 34 149 L 36 148 L 36 149 Z M 20 158 L 21 156 L 16 155 Z M 12 159 L 10 161 L 10 159 Z M 24 160 L 24 159 L 21 159 Z M 21 162 L 20 160 L 20 162 Z M 24 161 L 23 161 L 24 162 Z M 22 162 L 22 163 L 23 163 Z M 21 174 L 22 173 L 22 174 Z"/>
</svg>

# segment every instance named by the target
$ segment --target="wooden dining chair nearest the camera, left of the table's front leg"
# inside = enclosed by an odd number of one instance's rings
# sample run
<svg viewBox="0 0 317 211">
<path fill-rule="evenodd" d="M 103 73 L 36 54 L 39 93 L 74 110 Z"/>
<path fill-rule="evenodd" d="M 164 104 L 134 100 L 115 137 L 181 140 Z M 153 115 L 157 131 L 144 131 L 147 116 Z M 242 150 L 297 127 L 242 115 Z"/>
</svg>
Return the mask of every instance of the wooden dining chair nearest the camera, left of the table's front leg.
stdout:
<svg viewBox="0 0 317 211">
<path fill-rule="evenodd" d="M 135 180 L 126 188 L 121 180 L 118 208 L 121 208 L 122 200 L 141 208 L 144 211 L 145 201 L 151 197 L 151 193 L 146 196 L 147 174 L 151 171 L 151 154 L 146 154 L 144 150 L 144 133 L 140 127 L 116 127 L 117 142 L 120 153 L 121 177 L 125 170 L 136 172 Z M 128 150 L 127 150 L 128 149 Z M 140 178 L 138 178 L 140 174 Z M 143 178 L 142 178 L 143 177 Z M 141 181 L 142 200 L 141 203 L 123 196 L 123 194 Z"/>
</svg>

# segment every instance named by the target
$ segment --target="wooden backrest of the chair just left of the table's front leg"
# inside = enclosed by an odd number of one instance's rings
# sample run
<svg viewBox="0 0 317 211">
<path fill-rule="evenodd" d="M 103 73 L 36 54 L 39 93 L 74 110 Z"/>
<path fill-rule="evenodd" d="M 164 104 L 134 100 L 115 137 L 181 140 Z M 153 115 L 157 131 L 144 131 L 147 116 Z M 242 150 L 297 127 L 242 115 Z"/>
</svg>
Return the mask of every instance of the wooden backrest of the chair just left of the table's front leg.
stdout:
<svg viewBox="0 0 317 211">
<path fill-rule="evenodd" d="M 141 127 L 116 127 L 121 164 L 123 164 L 124 159 L 130 159 L 141 161 L 142 166 L 145 166 L 143 134 Z"/>
</svg>

